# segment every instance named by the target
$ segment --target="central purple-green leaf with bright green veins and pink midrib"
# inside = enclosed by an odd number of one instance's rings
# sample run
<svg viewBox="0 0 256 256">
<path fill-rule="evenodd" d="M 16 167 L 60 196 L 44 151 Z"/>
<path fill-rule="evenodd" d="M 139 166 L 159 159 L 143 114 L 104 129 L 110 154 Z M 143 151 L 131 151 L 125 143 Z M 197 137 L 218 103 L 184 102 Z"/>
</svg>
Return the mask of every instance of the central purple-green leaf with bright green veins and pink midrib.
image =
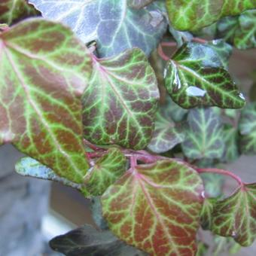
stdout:
<svg viewBox="0 0 256 256">
<path fill-rule="evenodd" d="M 154 131 L 159 92 L 154 71 L 142 50 L 94 59 L 84 91 L 84 134 L 96 145 L 145 148 Z"/>
</svg>

